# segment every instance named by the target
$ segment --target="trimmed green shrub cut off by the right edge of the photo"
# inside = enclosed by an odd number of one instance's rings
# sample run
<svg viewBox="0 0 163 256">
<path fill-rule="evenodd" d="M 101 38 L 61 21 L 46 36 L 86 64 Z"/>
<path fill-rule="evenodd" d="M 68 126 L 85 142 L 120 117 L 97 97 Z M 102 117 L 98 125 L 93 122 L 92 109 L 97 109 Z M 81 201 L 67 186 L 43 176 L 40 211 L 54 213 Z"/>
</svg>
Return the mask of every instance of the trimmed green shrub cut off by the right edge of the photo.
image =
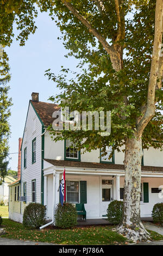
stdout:
<svg viewBox="0 0 163 256">
<path fill-rule="evenodd" d="M 154 223 L 163 225 L 163 203 L 158 203 L 153 206 L 152 218 Z"/>
</svg>

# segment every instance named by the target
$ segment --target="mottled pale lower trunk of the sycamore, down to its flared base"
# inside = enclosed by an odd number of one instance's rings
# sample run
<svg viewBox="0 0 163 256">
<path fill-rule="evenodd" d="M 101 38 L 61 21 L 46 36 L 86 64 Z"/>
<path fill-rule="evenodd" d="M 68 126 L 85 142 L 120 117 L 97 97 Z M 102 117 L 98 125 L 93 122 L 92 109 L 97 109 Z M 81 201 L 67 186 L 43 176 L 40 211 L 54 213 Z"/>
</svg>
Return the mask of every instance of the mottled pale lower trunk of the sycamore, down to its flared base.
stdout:
<svg viewBox="0 0 163 256">
<path fill-rule="evenodd" d="M 118 233 L 133 241 L 143 241 L 149 238 L 149 234 L 140 220 L 142 155 L 141 138 L 128 138 L 124 157 L 123 218 L 117 230 Z"/>
</svg>

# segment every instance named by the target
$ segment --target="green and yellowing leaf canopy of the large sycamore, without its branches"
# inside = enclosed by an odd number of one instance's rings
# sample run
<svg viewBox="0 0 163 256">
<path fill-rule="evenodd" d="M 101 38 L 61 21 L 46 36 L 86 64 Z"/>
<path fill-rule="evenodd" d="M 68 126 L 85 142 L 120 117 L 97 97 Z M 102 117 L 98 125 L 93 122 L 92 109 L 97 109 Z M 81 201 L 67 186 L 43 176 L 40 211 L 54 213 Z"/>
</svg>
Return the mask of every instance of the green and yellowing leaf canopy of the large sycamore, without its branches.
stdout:
<svg viewBox="0 0 163 256">
<path fill-rule="evenodd" d="M 125 36 L 121 37 L 118 37 L 115 1 L 101 1 L 105 10 L 102 15 L 96 2 L 74 0 L 71 5 L 113 48 L 117 44 L 122 46 L 121 70 L 116 71 L 112 67 L 110 56 L 102 43 L 97 41 L 91 29 L 67 9 L 64 1 L 39 1 L 41 10 L 51 10 L 52 20 L 60 28 L 60 39 L 69 50 L 66 57 L 79 59 L 79 72 L 72 72 L 65 67 L 61 68 L 59 75 L 53 74 L 50 69 L 46 71 L 48 78 L 57 83 L 62 92 L 50 99 L 60 102 L 63 107 L 68 105 L 72 111 L 111 111 L 111 135 L 107 138 L 95 130 L 62 131 L 55 140 L 72 138 L 79 148 L 87 150 L 105 148 L 109 144 L 118 150 L 124 138 L 134 136 L 138 120 L 143 116 L 142 108 L 147 102 L 154 43 L 155 1 L 122 3 L 126 21 Z M 156 88 L 155 115 L 142 135 L 144 149 L 162 148 L 162 97 L 162 88 Z"/>
</svg>

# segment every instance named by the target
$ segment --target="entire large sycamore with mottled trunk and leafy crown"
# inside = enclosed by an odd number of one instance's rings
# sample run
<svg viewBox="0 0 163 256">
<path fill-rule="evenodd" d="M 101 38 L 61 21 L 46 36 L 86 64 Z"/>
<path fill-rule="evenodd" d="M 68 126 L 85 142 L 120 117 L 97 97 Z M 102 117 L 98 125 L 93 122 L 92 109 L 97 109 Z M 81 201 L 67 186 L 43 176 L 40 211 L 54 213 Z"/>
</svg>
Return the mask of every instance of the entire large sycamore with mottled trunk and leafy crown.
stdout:
<svg viewBox="0 0 163 256">
<path fill-rule="evenodd" d="M 124 146 L 123 219 L 117 230 L 134 241 L 147 240 L 140 220 L 141 159 L 142 148 L 162 149 L 163 1 L 42 0 L 39 6 L 50 10 L 68 55 L 79 59 L 78 73 L 47 70 L 61 89 L 51 100 L 71 111 L 111 111 L 110 136 L 49 130 L 55 141 L 71 138 L 86 151 Z"/>
</svg>

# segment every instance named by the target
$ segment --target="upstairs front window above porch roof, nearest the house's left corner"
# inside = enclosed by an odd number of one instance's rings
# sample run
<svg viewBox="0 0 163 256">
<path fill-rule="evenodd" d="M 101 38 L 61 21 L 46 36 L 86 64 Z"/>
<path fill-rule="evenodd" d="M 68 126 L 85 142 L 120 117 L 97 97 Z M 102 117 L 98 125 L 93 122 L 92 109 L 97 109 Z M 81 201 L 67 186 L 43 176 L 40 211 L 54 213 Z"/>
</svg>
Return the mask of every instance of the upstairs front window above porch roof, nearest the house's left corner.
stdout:
<svg viewBox="0 0 163 256">
<path fill-rule="evenodd" d="M 80 161 L 80 151 L 78 151 L 78 148 L 70 139 L 65 141 L 65 160 Z"/>
</svg>

